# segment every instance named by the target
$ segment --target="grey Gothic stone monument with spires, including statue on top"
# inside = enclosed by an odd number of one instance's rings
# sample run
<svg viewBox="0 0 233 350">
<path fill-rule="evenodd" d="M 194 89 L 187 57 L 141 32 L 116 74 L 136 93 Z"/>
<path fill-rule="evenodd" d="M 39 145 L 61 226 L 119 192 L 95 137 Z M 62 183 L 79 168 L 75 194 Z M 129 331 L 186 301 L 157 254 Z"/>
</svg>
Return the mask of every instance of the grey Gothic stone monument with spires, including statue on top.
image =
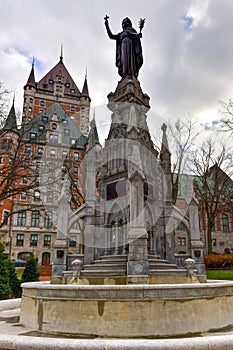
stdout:
<svg viewBox="0 0 233 350">
<path fill-rule="evenodd" d="M 83 221 L 81 260 L 84 264 L 80 281 L 99 284 L 110 280 L 118 284 L 188 282 L 184 259 L 179 258 L 177 268 L 174 253 L 177 220 L 184 221 L 191 235 L 190 255 L 186 258 L 197 262 L 197 276 L 205 280 L 195 201 L 190 207 L 190 218 L 182 217 L 173 206 L 167 127 L 165 124 L 161 127 L 162 146 L 158 152 L 147 125 L 150 99 L 138 80 L 143 64 L 141 31 L 145 19 L 140 20 L 138 33 L 126 17 L 118 34 L 111 32 L 108 19 L 106 16 L 105 26 L 109 38 L 116 41 L 116 66 L 121 77 L 115 91 L 108 95 L 111 126 L 101 149 L 95 122 L 91 123 L 82 164 L 86 179 L 83 187 L 85 204 L 72 214 L 67 209 L 69 215 L 60 225 L 67 234 L 75 220 Z M 60 202 L 64 208 L 62 198 Z M 58 225 L 57 255 L 62 250 L 61 243 L 65 244 L 60 231 Z M 64 259 L 66 256 L 64 246 Z M 80 255 L 69 258 L 80 259 Z M 62 263 L 59 259 L 56 256 L 53 277 L 59 270 L 61 280 L 65 275 L 68 283 L 67 276 L 71 276 L 72 271 L 66 270 L 71 270 L 67 267 L 71 264 L 65 266 L 64 259 Z"/>
</svg>

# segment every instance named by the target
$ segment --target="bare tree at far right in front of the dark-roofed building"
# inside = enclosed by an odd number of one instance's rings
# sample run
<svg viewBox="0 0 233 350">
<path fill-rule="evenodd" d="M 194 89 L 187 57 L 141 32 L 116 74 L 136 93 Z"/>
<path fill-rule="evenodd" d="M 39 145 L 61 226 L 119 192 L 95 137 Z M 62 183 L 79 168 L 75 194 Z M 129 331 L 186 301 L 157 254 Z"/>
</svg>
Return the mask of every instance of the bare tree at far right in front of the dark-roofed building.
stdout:
<svg viewBox="0 0 233 350">
<path fill-rule="evenodd" d="M 226 146 L 209 138 L 193 154 L 192 166 L 195 192 L 202 215 L 206 217 L 207 251 L 210 254 L 215 218 L 231 202 L 233 195 L 232 163 Z"/>
</svg>

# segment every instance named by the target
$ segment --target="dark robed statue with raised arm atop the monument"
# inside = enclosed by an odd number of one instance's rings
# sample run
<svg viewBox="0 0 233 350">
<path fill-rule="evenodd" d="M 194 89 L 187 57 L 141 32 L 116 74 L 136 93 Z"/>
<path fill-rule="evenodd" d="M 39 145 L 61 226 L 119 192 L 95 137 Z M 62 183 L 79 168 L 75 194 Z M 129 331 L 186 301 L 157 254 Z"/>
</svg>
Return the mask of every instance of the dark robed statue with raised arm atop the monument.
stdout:
<svg viewBox="0 0 233 350">
<path fill-rule="evenodd" d="M 116 40 L 116 66 L 118 73 L 122 79 L 137 79 L 139 69 L 143 64 L 142 46 L 140 38 L 142 38 L 141 30 L 144 26 L 145 19 L 139 21 L 140 32 L 137 33 L 132 28 L 131 20 L 126 17 L 122 21 L 123 31 L 118 34 L 112 34 L 108 16 L 105 16 L 105 26 L 110 39 Z"/>
</svg>

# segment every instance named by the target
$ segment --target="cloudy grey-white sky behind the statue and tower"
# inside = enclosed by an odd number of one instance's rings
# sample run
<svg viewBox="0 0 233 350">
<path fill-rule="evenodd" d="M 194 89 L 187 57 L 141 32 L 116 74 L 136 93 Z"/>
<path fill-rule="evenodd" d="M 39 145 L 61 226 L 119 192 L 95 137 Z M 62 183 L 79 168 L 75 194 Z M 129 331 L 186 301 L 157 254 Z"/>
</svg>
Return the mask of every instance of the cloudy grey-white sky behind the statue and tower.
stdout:
<svg viewBox="0 0 233 350">
<path fill-rule="evenodd" d="M 220 118 L 218 101 L 233 98 L 232 0 L 0 0 L 0 81 L 15 90 L 18 109 L 33 56 L 38 81 L 58 62 L 61 44 L 79 89 L 87 68 L 92 107 L 107 103 L 120 77 L 106 14 L 113 33 L 126 16 L 135 29 L 146 18 L 139 80 L 155 112 L 151 124 L 158 115 L 210 125 Z M 105 112 L 96 111 L 103 125 Z"/>
</svg>

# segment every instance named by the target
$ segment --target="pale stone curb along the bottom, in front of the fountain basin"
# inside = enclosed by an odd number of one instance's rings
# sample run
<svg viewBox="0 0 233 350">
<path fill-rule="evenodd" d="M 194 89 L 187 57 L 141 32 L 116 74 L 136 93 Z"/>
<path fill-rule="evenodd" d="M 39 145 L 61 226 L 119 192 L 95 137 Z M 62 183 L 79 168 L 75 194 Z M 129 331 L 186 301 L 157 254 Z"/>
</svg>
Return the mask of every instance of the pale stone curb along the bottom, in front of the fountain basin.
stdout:
<svg viewBox="0 0 233 350">
<path fill-rule="evenodd" d="M 233 335 L 184 339 L 60 339 L 0 334 L 4 350 L 232 350 Z"/>
</svg>

